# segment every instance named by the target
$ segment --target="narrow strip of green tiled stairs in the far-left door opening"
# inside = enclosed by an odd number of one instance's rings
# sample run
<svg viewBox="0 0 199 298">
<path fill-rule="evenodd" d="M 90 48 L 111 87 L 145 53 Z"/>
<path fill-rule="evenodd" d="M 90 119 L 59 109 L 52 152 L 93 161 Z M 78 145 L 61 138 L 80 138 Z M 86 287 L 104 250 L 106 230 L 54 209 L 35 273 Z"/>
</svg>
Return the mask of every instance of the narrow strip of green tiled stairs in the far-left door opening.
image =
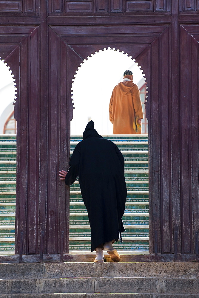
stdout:
<svg viewBox="0 0 199 298">
<path fill-rule="evenodd" d="M 0 254 L 14 254 L 16 135 L 0 135 Z"/>
</svg>

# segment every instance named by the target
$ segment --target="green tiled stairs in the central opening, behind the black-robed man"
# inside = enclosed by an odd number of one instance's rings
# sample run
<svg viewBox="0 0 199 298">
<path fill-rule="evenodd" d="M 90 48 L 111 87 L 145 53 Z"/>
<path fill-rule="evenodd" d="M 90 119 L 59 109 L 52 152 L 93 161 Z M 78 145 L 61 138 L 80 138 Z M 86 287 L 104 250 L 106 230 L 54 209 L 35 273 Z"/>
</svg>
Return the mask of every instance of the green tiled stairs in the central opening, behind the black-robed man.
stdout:
<svg viewBox="0 0 199 298">
<path fill-rule="evenodd" d="M 149 207 L 148 207 L 148 136 L 110 135 L 122 151 L 125 159 L 127 203 L 123 217 L 126 232 L 123 243 L 114 247 L 122 252 L 147 252 L 149 250 Z M 71 154 L 80 136 L 71 136 Z M 90 253 L 90 226 L 87 210 L 82 201 L 78 181 L 70 187 L 70 251 Z"/>
</svg>

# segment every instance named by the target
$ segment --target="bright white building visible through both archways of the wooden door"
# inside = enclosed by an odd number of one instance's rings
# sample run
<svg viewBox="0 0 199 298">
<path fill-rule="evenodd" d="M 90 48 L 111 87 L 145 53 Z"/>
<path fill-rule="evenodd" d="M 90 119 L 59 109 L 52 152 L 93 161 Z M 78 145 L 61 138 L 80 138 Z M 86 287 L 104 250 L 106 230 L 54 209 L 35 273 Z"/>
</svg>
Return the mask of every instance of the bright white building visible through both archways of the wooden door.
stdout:
<svg viewBox="0 0 199 298">
<path fill-rule="evenodd" d="M 99 134 L 112 134 L 109 121 L 109 101 L 112 90 L 123 80 L 126 69 L 133 72 L 134 82 L 141 91 L 144 119 L 142 134 L 148 134 L 148 121 L 145 118 L 146 85 L 143 70 L 131 56 L 115 49 L 104 49 L 92 54 L 76 71 L 72 83 L 72 102 L 74 102 L 71 135 L 82 135 L 88 121 L 95 122 Z M 9 66 L 0 59 L 0 134 L 15 134 L 16 121 L 14 106 L 16 83 Z"/>
</svg>

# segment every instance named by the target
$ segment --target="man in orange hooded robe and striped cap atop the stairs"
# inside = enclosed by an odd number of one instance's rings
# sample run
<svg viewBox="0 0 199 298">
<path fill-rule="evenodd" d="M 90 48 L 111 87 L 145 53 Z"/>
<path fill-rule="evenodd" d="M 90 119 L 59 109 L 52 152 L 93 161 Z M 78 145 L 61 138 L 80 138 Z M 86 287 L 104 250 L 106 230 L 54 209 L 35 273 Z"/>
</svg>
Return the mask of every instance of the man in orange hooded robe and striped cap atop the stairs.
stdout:
<svg viewBox="0 0 199 298">
<path fill-rule="evenodd" d="M 143 110 L 140 90 L 132 80 L 132 71 L 126 70 L 124 80 L 112 91 L 109 119 L 113 124 L 113 134 L 141 134 Z"/>
</svg>

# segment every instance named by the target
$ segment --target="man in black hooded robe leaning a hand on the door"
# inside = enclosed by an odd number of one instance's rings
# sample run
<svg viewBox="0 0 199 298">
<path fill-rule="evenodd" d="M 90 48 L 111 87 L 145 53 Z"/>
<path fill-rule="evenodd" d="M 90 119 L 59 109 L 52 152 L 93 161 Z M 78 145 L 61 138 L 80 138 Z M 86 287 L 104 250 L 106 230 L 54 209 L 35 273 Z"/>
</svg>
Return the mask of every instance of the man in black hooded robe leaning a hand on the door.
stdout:
<svg viewBox="0 0 199 298">
<path fill-rule="evenodd" d="M 102 255 L 103 249 L 107 249 L 112 260 L 119 261 L 112 241 L 120 239 L 122 242 L 121 232 L 125 231 L 122 216 L 127 188 L 121 151 L 113 142 L 98 134 L 91 120 L 83 133 L 83 140 L 72 153 L 69 165 L 68 172 L 60 171 L 59 175 L 63 177 L 61 179 L 65 177 L 67 185 L 72 185 L 79 177 L 91 228 L 91 251 L 96 249 L 95 262 L 104 260 L 104 257 L 98 256 L 100 249 Z"/>
</svg>

